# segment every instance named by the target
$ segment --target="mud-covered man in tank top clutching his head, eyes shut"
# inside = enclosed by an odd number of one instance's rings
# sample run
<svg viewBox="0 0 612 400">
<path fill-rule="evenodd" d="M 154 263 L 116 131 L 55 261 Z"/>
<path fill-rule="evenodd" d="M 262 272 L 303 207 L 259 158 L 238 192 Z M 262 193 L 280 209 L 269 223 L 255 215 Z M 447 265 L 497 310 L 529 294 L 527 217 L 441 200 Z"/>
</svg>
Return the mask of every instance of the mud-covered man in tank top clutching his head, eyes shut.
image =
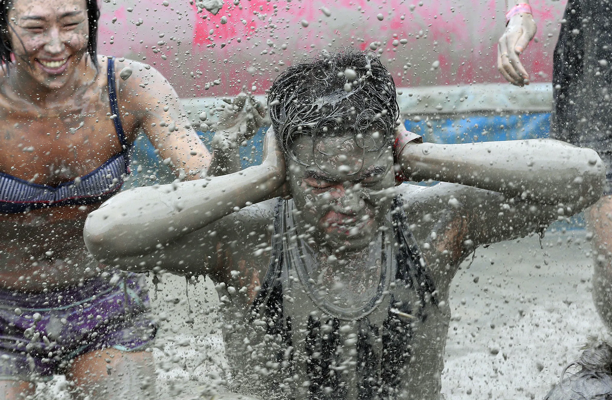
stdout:
<svg viewBox="0 0 612 400">
<path fill-rule="evenodd" d="M 373 53 L 289 67 L 268 105 L 262 165 L 126 191 L 84 232 L 124 269 L 211 276 L 240 393 L 438 399 L 461 261 L 602 191 L 597 154 L 559 141 L 418 143 Z"/>
</svg>

